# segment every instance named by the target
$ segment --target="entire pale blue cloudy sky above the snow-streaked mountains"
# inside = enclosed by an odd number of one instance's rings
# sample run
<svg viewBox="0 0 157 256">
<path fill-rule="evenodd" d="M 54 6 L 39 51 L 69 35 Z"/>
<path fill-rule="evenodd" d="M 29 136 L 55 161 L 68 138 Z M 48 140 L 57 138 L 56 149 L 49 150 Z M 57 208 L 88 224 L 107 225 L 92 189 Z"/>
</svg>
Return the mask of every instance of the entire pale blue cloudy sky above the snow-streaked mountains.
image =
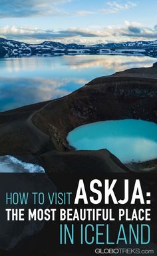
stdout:
<svg viewBox="0 0 157 256">
<path fill-rule="evenodd" d="M 157 39 L 156 0 L 0 0 L 0 37 L 41 43 Z"/>
</svg>

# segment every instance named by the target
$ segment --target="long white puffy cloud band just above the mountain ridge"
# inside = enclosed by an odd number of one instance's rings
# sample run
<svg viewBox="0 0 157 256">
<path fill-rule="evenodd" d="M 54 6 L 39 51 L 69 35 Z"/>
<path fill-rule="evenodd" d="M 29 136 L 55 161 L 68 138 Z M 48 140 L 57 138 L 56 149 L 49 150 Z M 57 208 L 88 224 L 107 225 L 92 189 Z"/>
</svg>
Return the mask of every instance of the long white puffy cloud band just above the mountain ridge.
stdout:
<svg viewBox="0 0 157 256">
<path fill-rule="evenodd" d="M 128 22 L 124 26 L 109 26 L 82 29 L 71 27 L 65 30 L 39 29 L 33 27 L 0 27 L 0 37 L 41 43 L 42 41 L 61 41 L 62 43 L 106 43 L 119 41 L 134 41 L 157 38 L 157 25 L 154 28 L 146 27 L 140 23 Z"/>
</svg>

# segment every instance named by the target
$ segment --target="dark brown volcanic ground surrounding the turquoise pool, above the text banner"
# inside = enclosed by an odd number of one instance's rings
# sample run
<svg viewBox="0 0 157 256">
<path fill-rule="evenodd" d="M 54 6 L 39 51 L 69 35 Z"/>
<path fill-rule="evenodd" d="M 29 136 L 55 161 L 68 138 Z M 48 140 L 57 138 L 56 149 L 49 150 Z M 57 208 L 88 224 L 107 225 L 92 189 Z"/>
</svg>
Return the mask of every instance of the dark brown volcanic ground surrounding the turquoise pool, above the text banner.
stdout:
<svg viewBox="0 0 157 256">
<path fill-rule="evenodd" d="M 97 170 L 101 171 L 103 166 L 104 172 L 129 171 L 108 150 L 75 152 L 66 137 L 77 126 L 100 120 L 134 118 L 157 123 L 156 88 L 157 63 L 154 63 L 151 68 L 96 78 L 57 100 L 1 112 L 0 154 L 40 162 L 47 172 L 75 171 L 76 161 L 79 166 L 82 162 L 82 172 L 88 166 L 89 172 L 94 172 L 93 158 Z M 154 165 L 156 170 L 156 160 Z M 141 169 L 144 165 L 139 166 Z"/>
</svg>

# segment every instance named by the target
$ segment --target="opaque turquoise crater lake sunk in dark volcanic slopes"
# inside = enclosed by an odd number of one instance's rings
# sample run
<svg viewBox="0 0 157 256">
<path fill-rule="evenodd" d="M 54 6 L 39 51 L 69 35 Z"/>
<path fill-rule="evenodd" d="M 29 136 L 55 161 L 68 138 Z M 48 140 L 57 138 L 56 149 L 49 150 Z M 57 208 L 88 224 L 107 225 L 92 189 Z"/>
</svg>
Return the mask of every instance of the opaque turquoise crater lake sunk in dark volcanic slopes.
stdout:
<svg viewBox="0 0 157 256">
<path fill-rule="evenodd" d="M 69 132 L 67 140 L 76 150 L 106 148 L 123 163 L 157 158 L 157 125 L 124 119 L 94 122 Z"/>
</svg>

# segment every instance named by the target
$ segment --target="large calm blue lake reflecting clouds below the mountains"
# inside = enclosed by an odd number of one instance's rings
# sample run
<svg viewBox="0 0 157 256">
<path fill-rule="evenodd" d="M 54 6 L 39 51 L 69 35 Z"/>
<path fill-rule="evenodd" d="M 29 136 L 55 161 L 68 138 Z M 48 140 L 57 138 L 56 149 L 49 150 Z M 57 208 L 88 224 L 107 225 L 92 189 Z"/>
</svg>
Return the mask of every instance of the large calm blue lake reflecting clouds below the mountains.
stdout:
<svg viewBox="0 0 157 256">
<path fill-rule="evenodd" d="M 0 112 L 70 94 L 98 76 L 152 66 L 146 56 L 75 55 L 0 59 Z"/>
</svg>

